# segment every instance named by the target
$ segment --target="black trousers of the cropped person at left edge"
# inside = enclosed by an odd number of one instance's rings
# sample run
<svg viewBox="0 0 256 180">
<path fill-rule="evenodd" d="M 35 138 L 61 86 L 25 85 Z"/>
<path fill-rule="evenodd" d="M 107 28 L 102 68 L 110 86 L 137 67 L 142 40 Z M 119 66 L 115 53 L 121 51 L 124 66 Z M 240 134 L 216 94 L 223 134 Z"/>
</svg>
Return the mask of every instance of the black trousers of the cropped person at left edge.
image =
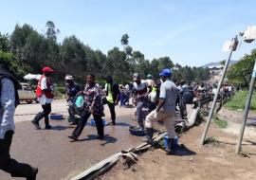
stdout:
<svg viewBox="0 0 256 180">
<path fill-rule="evenodd" d="M 0 170 L 10 173 L 12 177 L 27 177 L 32 175 L 33 169 L 30 165 L 19 163 L 11 159 L 9 148 L 11 145 L 13 131 L 8 131 L 4 139 L 0 139 Z"/>
</svg>

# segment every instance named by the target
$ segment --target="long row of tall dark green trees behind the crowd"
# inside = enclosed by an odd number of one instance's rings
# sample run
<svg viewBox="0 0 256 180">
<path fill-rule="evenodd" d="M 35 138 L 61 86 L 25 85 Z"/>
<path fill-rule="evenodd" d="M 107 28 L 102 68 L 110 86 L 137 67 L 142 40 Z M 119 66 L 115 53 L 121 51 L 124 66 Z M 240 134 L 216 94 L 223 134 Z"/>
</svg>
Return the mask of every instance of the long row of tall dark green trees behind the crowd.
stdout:
<svg viewBox="0 0 256 180">
<path fill-rule="evenodd" d="M 128 34 L 121 37 L 122 50 L 113 47 L 105 55 L 101 50 L 84 45 L 75 35 L 65 37 L 58 44 L 59 32 L 52 21 L 46 22 L 44 34 L 27 24 L 16 25 L 10 36 L 0 34 L 1 63 L 12 69 L 20 79 L 27 73 L 39 74 L 43 66 L 50 66 L 56 71 L 54 81 L 63 82 L 64 76 L 69 74 L 81 84 L 88 73 L 94 74 L 101 84 L 106 75 L 112 75 L 119 83 L 128 83 L 132 81 L 133 73 L 137 72 L 142 79 L 147 74 L 159 79 L 163 68 L 174 67 L 170 57 L 160 57 L 152 62 L 146 60 L 142 52 L 128 45 Z M 208 78 L 207 69 L 176 66 L 180 68 L 174 72 L 178 80 Z"/>
</svg>

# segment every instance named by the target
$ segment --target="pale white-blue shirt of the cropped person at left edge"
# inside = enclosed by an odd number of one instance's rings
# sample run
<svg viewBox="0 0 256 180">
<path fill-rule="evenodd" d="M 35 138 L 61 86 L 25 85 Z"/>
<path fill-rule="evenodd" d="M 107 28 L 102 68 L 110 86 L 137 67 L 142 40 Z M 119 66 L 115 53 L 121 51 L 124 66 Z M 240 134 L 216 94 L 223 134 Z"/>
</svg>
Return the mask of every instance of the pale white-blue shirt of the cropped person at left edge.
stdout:
<svg viewBox="0 0 256 180">
<path fill-rule="evenodd" d="M 15 130 L 15 90 L 14 84 L 7 78 L 1 81 L 2 91 L 0 96 L 0 139 L 4 139 L 6 132 Z"/>
</svg>

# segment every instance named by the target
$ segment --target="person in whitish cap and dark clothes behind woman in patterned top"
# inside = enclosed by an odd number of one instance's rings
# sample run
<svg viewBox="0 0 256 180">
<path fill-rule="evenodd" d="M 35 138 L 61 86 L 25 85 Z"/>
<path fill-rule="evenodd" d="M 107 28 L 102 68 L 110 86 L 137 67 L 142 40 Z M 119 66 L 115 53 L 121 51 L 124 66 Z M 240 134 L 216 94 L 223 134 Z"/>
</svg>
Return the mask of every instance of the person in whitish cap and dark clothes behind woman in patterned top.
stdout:
<svg viewBox="0 0 256 180">
<path fill-rule="evenodd" d="M 77 124 L 75 117 L 76 114 L 76 97 L 77 94 L 81 91 L 80 85 L 74 81 L 74 78 L 71 75 L 66 75 L 65 78 L 65 92 L 66 92 L 66 101 L 68 105 L 68 115 L 69 115 L 69 125 Z"/>
</svg>

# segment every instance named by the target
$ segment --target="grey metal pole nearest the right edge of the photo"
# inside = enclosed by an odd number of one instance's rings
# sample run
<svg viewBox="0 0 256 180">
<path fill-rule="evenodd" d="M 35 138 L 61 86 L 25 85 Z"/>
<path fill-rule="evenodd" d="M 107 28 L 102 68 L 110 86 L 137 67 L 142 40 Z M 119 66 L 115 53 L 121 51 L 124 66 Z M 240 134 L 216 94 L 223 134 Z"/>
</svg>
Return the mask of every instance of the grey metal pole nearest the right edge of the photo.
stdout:
<svg viewBox="0 0 256 180">
<path fill-rule="evenodd" d="M 237 154 L 239 154 L 241 151 L 241 144 L 242 144 L 242 140 L 243 140 L 246 124 L 247 124 L 247 116 L 248 116 L 248 111 L 249 111 L 249 106 L 250 106 L 250 100 L 251 100 L 251 97 L 253 94 L 253 86 L 254 86 L 255 77 L 256 77 L 256 60 L 254 63 L 252 77 L 250 80 L 249 92 L 248 92 L 248 96 L 247 96 L 247 103 L 246 103 L 245 113 L 244 113 L 244 117 L 243 117 L 243 123 L 242 123 L 241 129 L 240 129 L 240 134 L 239 134 L 239 138 L 238 138 L 236 149 L 235 149 L 235 153 L 237 153 Z"/>
</svg>

